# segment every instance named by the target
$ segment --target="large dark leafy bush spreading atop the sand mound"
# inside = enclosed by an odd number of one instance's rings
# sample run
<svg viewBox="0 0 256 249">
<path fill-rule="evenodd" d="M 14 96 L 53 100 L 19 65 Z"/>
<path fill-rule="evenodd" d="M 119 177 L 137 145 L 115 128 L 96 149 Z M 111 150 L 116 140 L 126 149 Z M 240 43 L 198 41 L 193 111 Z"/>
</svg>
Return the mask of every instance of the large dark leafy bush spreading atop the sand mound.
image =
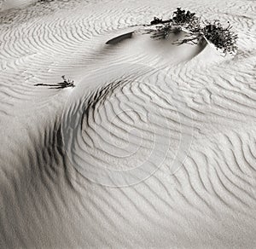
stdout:
<svg viewBox="0 0 256 249">
<path fill-rule="evenodd" d="M 213 43 L 217 49 L 222 49 L 224 54 L 233 54 L 236 52 L 237 35 L 231 31 L 231 26 L 223 27 L 218 20 L 212 23 L 206 21 L 201 26 L 200 18 L 190 11 L 177 8 L 173 12 L 172 19 L 162 20 L 154 17 L 150 25 L 158 25 L 156 29 L 148 32 L 152 33 L 152 38 L 165 39 L 170 33 L 185 30 L 188 33 L 187 38 L 179 40 L 177 43 L 199 43 L 202 38 Z"/>
</svg>

